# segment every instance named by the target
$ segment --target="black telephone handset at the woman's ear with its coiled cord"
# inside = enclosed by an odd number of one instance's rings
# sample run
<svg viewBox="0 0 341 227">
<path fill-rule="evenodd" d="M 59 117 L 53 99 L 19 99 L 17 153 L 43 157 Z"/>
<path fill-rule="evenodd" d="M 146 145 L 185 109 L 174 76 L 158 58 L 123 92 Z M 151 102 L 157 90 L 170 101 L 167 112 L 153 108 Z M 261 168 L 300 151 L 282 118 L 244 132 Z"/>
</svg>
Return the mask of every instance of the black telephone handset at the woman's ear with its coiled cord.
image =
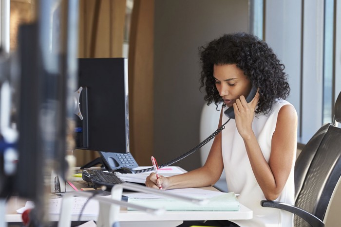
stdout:
<svg viewBox="0 0 341 227">
<path fill-rule="evenodd" d="M 257 93 L 257 87 L 252 86 L 249 94 L 246 97 L 246 102 L 249 103 L 251 102 L 251 100 L 255 97 Z M 229 122 L 231 119 L 234 119 L 234 111 L 233 111 L 233 107 L 229 107 L 225 112 L 226 116 L 229 118 L 227 120 L 227 122 Z M 161 164 L 159 165 L 159 168 L 163 168 L 165 166 L 170 166 L 172 164 L 174 164 L 175 162 L 180 161 L 181 159 L 193 154 L 194 152 L 196 152 L 197 150 L 199 150 L 200 147 L 204 146 L 206 143 L 208 143 L 210 140 L 212 140 L 216 135 L 218 135 L 224 128 L 225 128 L 225 124 L 227 124 L 227 122 L 225 122 L 222 126 L 220 126 L 217 130 L 215 130 L 208 138 L 206 138 L 206 140 L 202 141 L 201 143 L 199 143 L 196 147 L 192 148 L 191 150 L 189 150 L 188 152 L 186 152 L 185 154 L 174 158 L 173 160 Z M 135 174 L 141 174 L 141 173 L 146 173 L 149 171 L 153 171 L 153 168 L 148 168 L 148 169 L 142 169 L 142 170 L 135 170 Z"/>
</svg>

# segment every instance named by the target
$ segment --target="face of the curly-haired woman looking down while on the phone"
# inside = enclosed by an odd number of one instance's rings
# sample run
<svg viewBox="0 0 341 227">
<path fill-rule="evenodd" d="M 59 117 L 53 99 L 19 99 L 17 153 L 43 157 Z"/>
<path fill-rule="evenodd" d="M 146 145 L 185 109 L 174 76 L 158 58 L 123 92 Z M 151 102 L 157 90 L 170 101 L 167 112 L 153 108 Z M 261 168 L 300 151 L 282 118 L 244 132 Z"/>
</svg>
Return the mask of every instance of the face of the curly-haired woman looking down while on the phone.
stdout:
<svg viewBox="0 0 341 227">
<path fill-rule="evenodd" d="M 214 65 L 213 77 L 219 95 L 228 107 L 231 107 L 241 95 L 246 97 L 252 87 L 244 71 L 237 68 L 236 64 Z"/>
</svg>

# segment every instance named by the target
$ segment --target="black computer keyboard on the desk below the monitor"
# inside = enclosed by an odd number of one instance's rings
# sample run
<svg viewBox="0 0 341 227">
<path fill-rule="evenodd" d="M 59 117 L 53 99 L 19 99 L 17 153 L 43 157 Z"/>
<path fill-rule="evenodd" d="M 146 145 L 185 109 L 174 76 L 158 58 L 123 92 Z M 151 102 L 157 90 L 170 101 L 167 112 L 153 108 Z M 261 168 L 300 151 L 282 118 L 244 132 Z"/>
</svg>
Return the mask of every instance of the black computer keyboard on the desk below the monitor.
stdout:
<svg viewBox="0 0 341 227">
<path fill-rule="evenodd" d="M 94 188 L 100 188 L 101 186 L 112 188 L 115 184 L 125 183 L 125 181 L 120 180 L 114 173 L 103 172 L 102 170 L 82 170 L 82 178 L 92 183 Z"/>
</svg>

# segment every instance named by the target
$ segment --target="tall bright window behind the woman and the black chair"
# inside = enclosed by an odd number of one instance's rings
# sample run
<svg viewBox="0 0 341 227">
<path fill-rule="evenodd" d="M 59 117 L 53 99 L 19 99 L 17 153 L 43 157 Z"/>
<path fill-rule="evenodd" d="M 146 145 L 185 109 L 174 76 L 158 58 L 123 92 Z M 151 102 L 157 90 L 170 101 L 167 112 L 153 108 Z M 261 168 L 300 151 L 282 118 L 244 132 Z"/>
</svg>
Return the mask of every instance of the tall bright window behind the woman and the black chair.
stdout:
<svg viewBox="0 0 341 227">
<path fill-rule="evenodd" d="M 341 4 L 337 0 L 265 1 L 264 37 L 285 65 L 305 144 L 333 121 L 341 91 Z"/>
</svg>

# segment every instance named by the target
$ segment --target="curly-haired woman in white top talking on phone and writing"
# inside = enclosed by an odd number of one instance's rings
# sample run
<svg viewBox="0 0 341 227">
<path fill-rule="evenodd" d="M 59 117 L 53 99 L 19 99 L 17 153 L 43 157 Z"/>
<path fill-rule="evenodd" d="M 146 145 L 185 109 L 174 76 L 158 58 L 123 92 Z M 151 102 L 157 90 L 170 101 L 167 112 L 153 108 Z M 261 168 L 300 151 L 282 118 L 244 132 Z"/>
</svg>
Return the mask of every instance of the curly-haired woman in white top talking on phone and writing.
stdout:
<svg viewBox="0 0 341 227">
<path fill-rule="evenodd" d="M 224 111 L 232 106 L 235 120 L 214 138 L 203 167 L 167 178 L 151 174 L 146 186 L 214 185 L 225 168 L 228 190 L 240 194 L 239 202 L 253 210 L 251 220 L 231 226 L 293 226 L 292 214 L 260 206 L 264 199 L 294 204 L 297 113 L 285 101 L 290 88 L 284 65 L 264 41 L 246 33 L 223 35 L 201 47 L 200 54 L 205 100 L 208 105 L 224 102 L 219 126 L 227 122 Z M 247 103 L 252 86 L 258 92 Z"/>
</svg>

